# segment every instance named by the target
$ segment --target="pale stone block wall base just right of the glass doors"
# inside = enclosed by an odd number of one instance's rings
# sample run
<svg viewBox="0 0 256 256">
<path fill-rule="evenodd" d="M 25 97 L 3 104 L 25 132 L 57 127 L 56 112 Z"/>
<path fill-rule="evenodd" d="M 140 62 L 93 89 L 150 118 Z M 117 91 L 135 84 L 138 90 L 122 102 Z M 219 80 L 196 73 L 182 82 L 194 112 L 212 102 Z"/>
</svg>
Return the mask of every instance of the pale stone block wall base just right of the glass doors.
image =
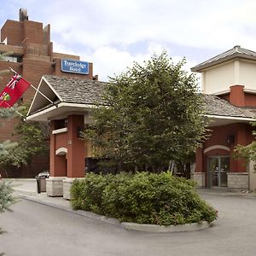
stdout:
<svg viewBox="0 0 256 256">
<path fill-rule="evenodd" d="M 228 172 L 229 189 L 248 189 L 249 175 L 248 172 Z"/>
</svg>

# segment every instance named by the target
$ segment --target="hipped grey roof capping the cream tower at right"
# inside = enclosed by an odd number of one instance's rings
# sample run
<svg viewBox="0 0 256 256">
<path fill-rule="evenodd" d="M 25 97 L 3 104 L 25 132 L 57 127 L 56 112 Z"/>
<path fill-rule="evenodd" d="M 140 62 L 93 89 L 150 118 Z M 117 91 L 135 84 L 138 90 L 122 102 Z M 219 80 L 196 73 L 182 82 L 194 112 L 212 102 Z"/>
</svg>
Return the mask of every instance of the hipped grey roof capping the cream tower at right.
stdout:
<svg viewBox="0 0 256 256">
<path fill-rule="evenodd" d="M 241 48 L 240 45 L 234 46 L 234 48 L 225 51 L 224 53 L 214 56 L 211 59 L 204 61 L 195 67 L 191 68 L 193 72 L 201 72 L 201 70 L 212 67 L 224 61 L 230 61 L 235 58 L 243 58 L 247 60 L 256 61 L 256 52 L 249 49 Z"/>
</svg>

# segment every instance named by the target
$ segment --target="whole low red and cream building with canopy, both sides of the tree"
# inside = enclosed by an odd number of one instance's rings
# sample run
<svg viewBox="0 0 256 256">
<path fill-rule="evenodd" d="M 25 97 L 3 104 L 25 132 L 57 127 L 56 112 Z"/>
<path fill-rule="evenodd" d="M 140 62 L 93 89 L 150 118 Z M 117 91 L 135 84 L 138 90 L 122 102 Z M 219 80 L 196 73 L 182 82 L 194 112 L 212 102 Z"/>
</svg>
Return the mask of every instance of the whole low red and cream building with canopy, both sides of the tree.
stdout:
<svg viewBox="0 0 256 256">
<path fill-rule="evenodd" d="M 211 120 L 209 137 L 196 151 L 192 173 L 201 187 L 256 189 L 253 163 L 233 158 L 236 145 L 253 141 L 250 123 L 256 120 L 254 70 L 256 52 L 240 46 L 192 68 L 202 74 L 202 107 Z M 79 140 L 78 131 L 90 123 L 91 109 L 101 100 L 103 87 L 102 82 L 59 76 L 44 76 L 41 80 L 39 89 L 56 106 L 37 93 L 27 119 L 51 122 L 47 195 L 69 199 L 71 183 L 84 176 L 84 159 L 90 155 L 90 147 Z"/>
</svg>

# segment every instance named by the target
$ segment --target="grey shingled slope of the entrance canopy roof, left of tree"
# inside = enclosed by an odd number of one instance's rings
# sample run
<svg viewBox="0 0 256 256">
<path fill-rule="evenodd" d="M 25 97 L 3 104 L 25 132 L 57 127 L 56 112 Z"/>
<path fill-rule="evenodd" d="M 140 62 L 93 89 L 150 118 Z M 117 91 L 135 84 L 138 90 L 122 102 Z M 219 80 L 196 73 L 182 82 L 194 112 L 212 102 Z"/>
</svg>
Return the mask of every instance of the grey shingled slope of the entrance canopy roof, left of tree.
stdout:
<svg viewBox="0 0 256 256">
<path fill-rule="evenodd" d="M 44 79 L 60 96 L 61 102 L 84 104 L 102 103 L 102 91 L 106 83 L 68 77 L 45 75 Z"/>
</svg>

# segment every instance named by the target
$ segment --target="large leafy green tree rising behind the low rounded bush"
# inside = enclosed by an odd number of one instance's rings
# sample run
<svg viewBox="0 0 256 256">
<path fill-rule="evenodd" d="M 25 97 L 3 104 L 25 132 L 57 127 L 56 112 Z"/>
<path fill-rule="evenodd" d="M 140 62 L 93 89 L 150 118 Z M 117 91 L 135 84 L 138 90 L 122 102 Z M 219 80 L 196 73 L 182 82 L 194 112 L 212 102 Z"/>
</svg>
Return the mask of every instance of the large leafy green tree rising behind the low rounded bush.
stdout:
<svg viewBox="0 0 256 256">
<path fill-rule="evenodd" d="M 153 171 L 170 160 L 186 162 L 206 137 L 206 119 L 193 74 L 167 56 L 153 55 L 110 79 L 84 131 L 96 154 L 115 163 Z"/>
</svg>

